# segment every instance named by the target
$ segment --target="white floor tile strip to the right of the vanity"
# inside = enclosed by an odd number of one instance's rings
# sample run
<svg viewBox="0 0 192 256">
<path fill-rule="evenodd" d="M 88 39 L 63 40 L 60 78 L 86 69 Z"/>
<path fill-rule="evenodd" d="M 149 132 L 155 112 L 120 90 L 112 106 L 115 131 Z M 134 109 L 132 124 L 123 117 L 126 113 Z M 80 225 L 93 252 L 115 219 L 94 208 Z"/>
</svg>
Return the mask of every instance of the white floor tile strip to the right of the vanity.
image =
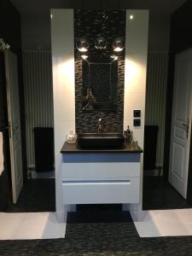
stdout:
<svg viewBox="0 0 192 256">
<path fill-rule="evenodd" d="M 143 211 L 134 221 L 140 237 L 192 236 L 192 209 Z"/>
</svg>

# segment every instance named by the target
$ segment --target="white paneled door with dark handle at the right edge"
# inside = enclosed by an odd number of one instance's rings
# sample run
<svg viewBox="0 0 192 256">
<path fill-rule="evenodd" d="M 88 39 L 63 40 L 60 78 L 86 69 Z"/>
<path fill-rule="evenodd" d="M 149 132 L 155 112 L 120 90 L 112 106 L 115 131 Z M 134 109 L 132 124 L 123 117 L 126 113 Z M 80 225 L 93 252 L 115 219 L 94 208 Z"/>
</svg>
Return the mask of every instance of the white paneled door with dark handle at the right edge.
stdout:
<svg viewBox="0 0 192 256">
<path fill-rule="evenodd" d="M 186 199 L 191 131 L 192 49 L 176 56 L 169 182 Z"/>
</svg>

